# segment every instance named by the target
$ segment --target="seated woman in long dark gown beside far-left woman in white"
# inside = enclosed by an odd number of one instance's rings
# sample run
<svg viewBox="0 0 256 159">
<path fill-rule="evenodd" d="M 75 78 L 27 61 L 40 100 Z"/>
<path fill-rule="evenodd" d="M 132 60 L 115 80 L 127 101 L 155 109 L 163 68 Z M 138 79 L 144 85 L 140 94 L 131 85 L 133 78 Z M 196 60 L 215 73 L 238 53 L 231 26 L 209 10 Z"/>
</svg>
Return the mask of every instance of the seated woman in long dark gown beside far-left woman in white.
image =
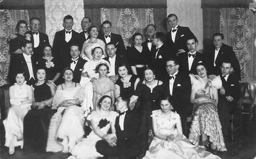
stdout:
<svg viewBox="0 0 256 159">
<path fill-rule="evenodd" d="M 51 104 L 55 86 L 46 83 L 46 69 L 37 70 L 37 83 L 33 85 L 33 103 L 24 117 L 24 146 L 32 146 L 36 153 L 44 153 L 51 120 Z"/>
</svg>

